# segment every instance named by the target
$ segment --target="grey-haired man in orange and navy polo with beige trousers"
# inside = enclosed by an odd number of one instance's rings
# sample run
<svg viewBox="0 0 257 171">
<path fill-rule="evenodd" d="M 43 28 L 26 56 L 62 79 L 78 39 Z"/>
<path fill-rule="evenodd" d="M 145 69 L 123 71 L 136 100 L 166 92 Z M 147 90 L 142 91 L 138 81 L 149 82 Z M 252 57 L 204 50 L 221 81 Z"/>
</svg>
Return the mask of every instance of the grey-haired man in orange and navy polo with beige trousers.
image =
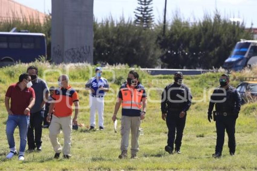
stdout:
<svg viewBox="0 0 257 171">
<path fill-rule="evenodd" d="M 77 117 L 79 113 L 79 97 L 75 89 L 69 84 L 69 77 L 61 75 L 58 79 L 59 89 L 55 89 L 52 98 L 54 99 L 49 107 L 47 114 L 47 121 L 50 122 L 51 113 L 52 120 L 49 126 L 49 138 L 55 151 L 54 158 L 58 159 L 60 153 L 63 152 L 63 158 L 70 158 L 70 144 L 72 125 L 77 125 Z M 75 115 L 72 119 L 72 105 L 75 105 Z M 60 134 L 62 128 L 64 146 L 63 150 L 61 144 L 58 142 L 57 135 Z"/>
</svg>

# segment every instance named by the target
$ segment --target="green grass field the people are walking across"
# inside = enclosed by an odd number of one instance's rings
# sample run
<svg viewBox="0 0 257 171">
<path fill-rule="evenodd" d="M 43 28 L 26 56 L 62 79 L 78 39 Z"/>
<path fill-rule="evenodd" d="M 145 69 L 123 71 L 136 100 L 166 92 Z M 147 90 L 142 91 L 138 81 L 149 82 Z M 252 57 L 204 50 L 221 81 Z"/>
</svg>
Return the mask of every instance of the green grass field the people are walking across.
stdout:
<svg viewBox="0 0 257 171">
<path fill-rule="evenodd" d="M 45 78 L 48 86 L 57 86 L 59 70 L 68 73 L 71 85 L 78 90 L 80 96 L 79 123 L 89 125 L 89 92 L 83 90 L 84 83 L 90 77 L 90 66 L 53 66 L 36 62 L 39 76 Z M 115 105 L 115 96 L 120 81 L 126 79 L 128 66 L 123 69 L 113 69 L 115 81 L 110 84 L 114 93 L 109 93 L 105 100 L 105 130 L 88 131 L 86 126 L 72 132 L 72 157 L 70 160 L 54 160 L 54 151 L 48 138 L 48 129 L 43 130 L 42 152 L 25 153 L 25 160 L 18 161 L 18 156 L 6 160 L 9 152 L 5 135 L 7 112 L 4 107 L 4 97 L 8 86 L 17 82 L 20 73 L 25 72 L 28 65 L 16 65 L 0 69 L 0 169 L 1 170 L 257 170 L 257 105 L 256 103 L 242 106 L 236 122 L 236 155 L 230 156 L 227 147 L 227 136 L 220 159 L 211 157 L 215 150 L 215 123 L 207 120 L 208 91 L 218 86 L 220 73 L 207 73 L 199 76 L 184 76 L 184 82 L 191 88 L 194 98 L 193 105 L 188 111 L 181 154 L 165 153 L 167 142 L 167 127 L 161 120 L 160 95 L 162 89 L 173 81 L 173 76 L 150 76 L 139 71 L 140 79 L 147 88 L 148 107 L 145 120 L 142 121 L 143 135 L 139 137 L 140 151 L 138 159 L 118 159 L 120 154 L 120 131 L 113 131 L 111 117 Z M 48 70 L 47 70 L 48 69 Z M 56 69 L 50 71 L 49 69 Z M 236 86 L 243 76 L 255 76 L 256 70 L 251 72 L 232 73 L 231 84 Z M 44 74 L 44 72 L 47 73 Z M 107 70 L 103 77 L 112 80 L 112 72 Z M 52 84 L 51 84 L 52 82 Z M 156 89 L 157 88 L 157 89 Z M 196 101 L 198 100 L 198 101 Z M 110 101 L 110 102 L 108 102 Z M 200 102 L 201 101 L 201 102 Z M 118 114 L 120 127 L 121 112 Z M 60 142 L 63 143 L 62 134 Z M 15 130 L 16 147 L 19 148 L 18 128 Z M 130 154 L 130 151 L 129 151 Z"/>
</svg>

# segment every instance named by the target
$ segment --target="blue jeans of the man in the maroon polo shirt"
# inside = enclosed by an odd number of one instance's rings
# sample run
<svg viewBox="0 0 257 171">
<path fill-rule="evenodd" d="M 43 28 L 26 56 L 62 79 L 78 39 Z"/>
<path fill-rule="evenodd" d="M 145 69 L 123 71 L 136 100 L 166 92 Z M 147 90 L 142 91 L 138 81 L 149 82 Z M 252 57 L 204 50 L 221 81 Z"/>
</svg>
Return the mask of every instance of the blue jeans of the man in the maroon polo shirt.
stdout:
<svg viewBox="0 0 257 171">
<path fill-rule="evenodd" d="M 27 132 L 29 125 L 29 116 L 27 115 L 8 115 L 6 122 L 6 136 L 9 148 L 15 147 L 14 130 L 18 126 L 20 131 L 20 152 L 24 152 L 27 144 Z"/>
</svg>

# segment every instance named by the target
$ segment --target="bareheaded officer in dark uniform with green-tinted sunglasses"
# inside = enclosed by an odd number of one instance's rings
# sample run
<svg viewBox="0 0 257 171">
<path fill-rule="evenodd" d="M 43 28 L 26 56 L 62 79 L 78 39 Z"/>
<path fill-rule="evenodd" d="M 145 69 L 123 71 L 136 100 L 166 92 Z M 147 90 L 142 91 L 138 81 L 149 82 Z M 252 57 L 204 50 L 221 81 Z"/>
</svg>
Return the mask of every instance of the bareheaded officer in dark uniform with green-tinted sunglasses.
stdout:
<svg viewBox="0 0 257 171">
<path fill-rule="evenodd" d="M 229 153 L 233 156 L 236 150 L 235 126 L 241 108 L 241 97 L 238 91 L 229 85 L 229 76 L 227 74 L 221 76 L 220 87 L 217 87 L 211 96 L 208 109 L 208 120 L 210 122 L 214 104 L 216 109 L 216 115 L 214 116 L 216 117 L 217 141 L 213 157 L 219 158 L 222 154 L 225 129 L 229 139 Z"/>
</svg>

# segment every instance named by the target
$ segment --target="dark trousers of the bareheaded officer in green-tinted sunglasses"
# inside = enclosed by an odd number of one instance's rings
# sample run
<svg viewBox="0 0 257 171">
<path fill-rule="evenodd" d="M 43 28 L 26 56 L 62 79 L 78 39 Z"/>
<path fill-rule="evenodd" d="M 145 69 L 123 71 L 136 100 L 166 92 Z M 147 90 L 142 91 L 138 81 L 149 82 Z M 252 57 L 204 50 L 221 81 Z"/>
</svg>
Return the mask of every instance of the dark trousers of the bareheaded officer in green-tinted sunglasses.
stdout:
<svg viewBox="0 0 257 171">
<path fill-rule="evenodd" d="M 217 141 L 215 152 L 222 153 L 225 129 L 228 134 L 228 146 L 229 152 L 235 153 L 236 150 L 236 139 L 235 139 L 235 126 L 236 118 L 234 116 L 216 116 L 216 132 L 217 132 Z"/>
</svg>

